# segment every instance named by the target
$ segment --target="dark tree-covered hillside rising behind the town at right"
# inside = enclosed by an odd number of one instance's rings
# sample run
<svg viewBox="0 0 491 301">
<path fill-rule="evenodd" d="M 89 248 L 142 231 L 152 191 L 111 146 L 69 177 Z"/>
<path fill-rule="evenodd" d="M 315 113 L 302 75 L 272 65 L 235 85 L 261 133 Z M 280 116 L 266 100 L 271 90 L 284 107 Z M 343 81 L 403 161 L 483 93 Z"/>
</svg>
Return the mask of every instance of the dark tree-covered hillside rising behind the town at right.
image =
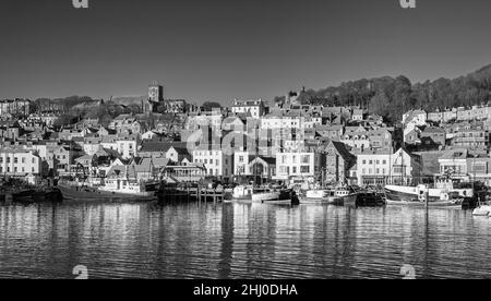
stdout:
<svg viewBox="0 0 491 301">
<path fill-rule="evenodd" d="M 302 104 L 361 106 L 388 121 L 399 121 L 409 109 L 434 110 L 488 103 L 491 95 L 491 64 L 457 79 L 439 79 L 412 84 L 406 76 L 362 79 L 300 94 Z M 276 97 L 275 101 L 284 100 Z"/>
</svg>

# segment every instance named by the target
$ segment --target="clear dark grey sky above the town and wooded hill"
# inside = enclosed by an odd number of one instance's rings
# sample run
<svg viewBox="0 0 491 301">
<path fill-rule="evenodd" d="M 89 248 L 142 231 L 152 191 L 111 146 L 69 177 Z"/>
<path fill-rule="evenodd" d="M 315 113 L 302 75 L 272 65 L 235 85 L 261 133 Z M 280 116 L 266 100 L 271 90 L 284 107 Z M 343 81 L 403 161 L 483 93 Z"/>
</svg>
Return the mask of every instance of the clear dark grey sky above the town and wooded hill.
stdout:
<svg viewBox="0 0 491 301">
<path fill-rule="evenodd" d="M 344 81 L 456 77 L 491 63 L 489 0 L 2 0 L 0 98 L 190 103 Z"/>
</svg>

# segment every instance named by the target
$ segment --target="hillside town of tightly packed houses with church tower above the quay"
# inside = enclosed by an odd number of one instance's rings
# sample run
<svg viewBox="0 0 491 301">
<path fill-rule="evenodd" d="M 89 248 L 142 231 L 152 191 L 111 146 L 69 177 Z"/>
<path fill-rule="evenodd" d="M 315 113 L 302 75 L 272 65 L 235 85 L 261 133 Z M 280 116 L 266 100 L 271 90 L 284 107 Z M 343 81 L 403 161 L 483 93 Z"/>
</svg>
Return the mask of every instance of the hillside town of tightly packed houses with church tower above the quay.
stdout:
<svg viewBox="0 0 491 301">
<path fill-rule="evenodd" d="M 171 182 L 254 177 L 304 188 L 415 184 L 438 176 L 491 184 L 491 106 L 411 110 L 400 124 L 387 124 L 360 107 L 301 105 L 298 95 L 203 108 L 164 99 L 154 83 L 140 113 L 122 113 L 107 127 L 97 119 L 56 127 L 57 111 L 1 100 L 0 174 L 31 184 L 83 178 L 100 185 L 155 174 Z"/>
</svg>

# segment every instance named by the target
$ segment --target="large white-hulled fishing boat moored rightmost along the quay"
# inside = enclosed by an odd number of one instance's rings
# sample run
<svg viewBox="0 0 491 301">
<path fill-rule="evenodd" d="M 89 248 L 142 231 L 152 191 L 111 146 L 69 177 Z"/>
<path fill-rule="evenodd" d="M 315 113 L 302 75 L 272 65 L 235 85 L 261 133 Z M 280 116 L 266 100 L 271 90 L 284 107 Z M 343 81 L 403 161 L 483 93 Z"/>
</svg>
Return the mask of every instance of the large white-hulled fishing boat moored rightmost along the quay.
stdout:
<svg viewBox="0 0 491 301">
<path fill-rule="evenodd" d="M 474 197 L 474 189 L 454 188 L 452 181 L 438 181 L 434 188 L 386 185 L 385 197 L 388 205 L 462 208 L 465 198 Z"/>
</svg>

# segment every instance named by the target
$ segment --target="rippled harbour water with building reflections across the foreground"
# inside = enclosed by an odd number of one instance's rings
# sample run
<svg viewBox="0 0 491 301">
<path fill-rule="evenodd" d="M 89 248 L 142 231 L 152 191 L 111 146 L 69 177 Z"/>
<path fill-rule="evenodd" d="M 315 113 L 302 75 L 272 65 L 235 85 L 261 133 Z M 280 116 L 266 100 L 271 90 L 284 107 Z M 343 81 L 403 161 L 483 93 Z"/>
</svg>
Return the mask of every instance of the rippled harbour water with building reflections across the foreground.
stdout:
<svg viewBox="0 0 491 301">
<path fill-rule="evenodd" d="M 0 206 L 0 278 L 491 278 L 471 212 L 261 204 Z"/>
</svg>

